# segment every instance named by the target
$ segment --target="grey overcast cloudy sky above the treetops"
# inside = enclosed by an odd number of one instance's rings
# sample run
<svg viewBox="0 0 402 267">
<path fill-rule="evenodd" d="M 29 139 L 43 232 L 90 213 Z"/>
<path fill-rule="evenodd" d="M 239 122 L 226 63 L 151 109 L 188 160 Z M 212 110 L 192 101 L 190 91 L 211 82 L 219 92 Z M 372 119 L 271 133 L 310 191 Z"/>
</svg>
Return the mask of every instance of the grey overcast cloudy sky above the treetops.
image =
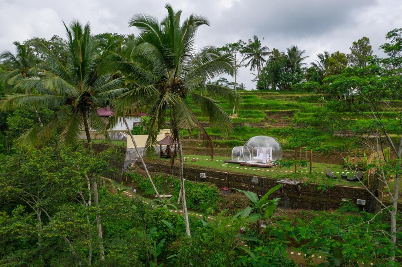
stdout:
<svg viewBox="0 0 402 267">
<path fill-rule="evenodd" d="M 89 21 L 92 33 L 136 33 L 127 26 L 136 13 L 162 19 L 166 14 L 160 0 L 0 0 L 0 51 L 14 52 L 13 41 L 34 36 L 65 38 L 62 21 Z M 386 32 L 402 27 L 401 0 L 170 0 L 183 16 L 199 13 L 211 26 L 202 26 L 197 45 L 222 46 L 255 34 L 270 49 L 285 51 L 292 44 L 306 50 L 310 63 L 323 51 L 349 52 L 354 40 L 367 36 L 373 51 L 384 43 Z M 182 17 L 183 17 L 182 16 Z M 238 83 L 254 87 L 253 75 L 240 69 Z"/>
</svg>

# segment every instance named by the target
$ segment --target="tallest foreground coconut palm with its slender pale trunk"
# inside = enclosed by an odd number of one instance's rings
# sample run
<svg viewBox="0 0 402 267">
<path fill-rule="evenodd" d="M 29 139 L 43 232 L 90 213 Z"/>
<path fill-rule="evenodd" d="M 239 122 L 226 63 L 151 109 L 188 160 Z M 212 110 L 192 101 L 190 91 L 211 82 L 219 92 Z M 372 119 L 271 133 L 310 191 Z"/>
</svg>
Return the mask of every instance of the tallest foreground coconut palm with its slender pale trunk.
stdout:
<svg viewBox="0 0 402 267">
<path fill-rule="evenodd" d="M 180 24 L 181 10 L 174 11 L 170 5 L 165 7 L 168 15 L 162 22 L 146 14 L 135 15 L 130 20 L 129 25 L 139 29 L 139 36 L 129 49 L 135 60 L 128 61 L 113 55 L 114 63 L 109 65 L 118 68 L 137 84 L 135 89 L 119 97 L 116 107 L 124 107 L 126 113 L 136 113 L 141 107 L 148 108 L 148 154 L 154 152 L 159 130 L 170 123 L 172 138 L 178 142 L 180 192 L 186 233 L 190 236 L 180 130 L 200 129 L 212 148 L 211 139 L 190 103 L 200 107 L 211 124 L 228 134 L 232 127 L 230 117 L 213 97 L 227 99 L 232 105 L 238 105 L 239 97 L 232 89 L 207 83 L 207 80 L 223 74 L 233 75 L 234 71 L 233 57 L 222 53 L 219 48 L 208 46 L 195 49 L 197 28 L 209 25 L 209 22 L 203 16 L 191 14 Z"/>
</svg>

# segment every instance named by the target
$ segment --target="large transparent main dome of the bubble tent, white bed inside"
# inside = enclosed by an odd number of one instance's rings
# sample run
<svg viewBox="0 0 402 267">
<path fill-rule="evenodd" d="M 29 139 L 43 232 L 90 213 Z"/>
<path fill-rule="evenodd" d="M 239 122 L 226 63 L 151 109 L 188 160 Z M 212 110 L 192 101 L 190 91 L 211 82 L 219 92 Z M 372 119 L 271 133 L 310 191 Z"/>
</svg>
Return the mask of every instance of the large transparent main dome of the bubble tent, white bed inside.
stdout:
<svg viewBox="0 0 402 267">
<path fill-rule="evenodd" d="M 282 148 L 271 136 L 254 136 L 244 144 L 243 159 L 246 164 L 275 166 L 282 159 Z"/>
</svg>

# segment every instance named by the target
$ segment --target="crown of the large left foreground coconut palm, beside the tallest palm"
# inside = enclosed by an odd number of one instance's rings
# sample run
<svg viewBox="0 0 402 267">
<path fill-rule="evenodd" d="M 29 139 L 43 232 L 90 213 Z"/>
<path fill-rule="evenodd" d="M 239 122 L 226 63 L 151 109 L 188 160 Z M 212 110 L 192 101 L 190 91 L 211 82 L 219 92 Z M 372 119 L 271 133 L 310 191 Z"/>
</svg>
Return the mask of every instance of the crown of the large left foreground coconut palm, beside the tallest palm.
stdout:
<svg viewBox="0 0 402 267">
<path fill-rule="evenodd" d="M 66 25 L 65 25 L 66 26 Z M 74 21 L 66 26 L 68 36 L 69 58 L 67 66 L 62 65 L 57 57 L 42 43 L 38 47 L 48 57 L 46 68 L 41 77 L 23 77 L 14 85 L 14 91 L 31 88 L 38 95 L 6 95 L 0 105 L 3 111 L 12 110 L 21 105 L 55 110 L 47 125 L 40 129 L 33 127 L 19 139 L 23 144 L 38 145 L 41 139 L 53 136 L 62 127 L 60 142 L 75 142 L 82 127 L 88 143 L 91 141 L 89 129 L 102 132 L 107 140 L 109 135 L 96 109 L 108 104 L 109 99 L 102 93 L 124 85 L 124 77 L 113 78 L 112 75 L 98 75 L 97 43 L 90 35 L 90 26 Z"/>
</svg>

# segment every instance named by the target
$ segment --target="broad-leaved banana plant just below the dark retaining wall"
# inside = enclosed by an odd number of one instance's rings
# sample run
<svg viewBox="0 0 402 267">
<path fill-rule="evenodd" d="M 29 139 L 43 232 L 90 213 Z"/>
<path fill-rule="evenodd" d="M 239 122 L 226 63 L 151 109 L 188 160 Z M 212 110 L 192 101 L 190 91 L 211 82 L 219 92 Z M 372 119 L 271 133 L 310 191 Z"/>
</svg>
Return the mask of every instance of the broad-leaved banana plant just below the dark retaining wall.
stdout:
<svg viewBox="0 0 402 267">
<path fill-rule="evenodd" d="M 243 217 L 247 218 L 250 222 L 255 222 L 257 220 L 265 220 L 265 223 L 268 223 L 268 219 L 271 218 L 272 214 L 275 211 L 276 206 L 279 203 L 280 198 L 268 199 L 269 195 L 278 190 L 281 187 L 281 184 L 278 184 L 274 188 L 271 188 L 264 196 L 258 199 L 258 195 L 254 192 L 244 191 L 240 189 L 233 188 L 245 196 L 248 197 L 250 201 L 247 201 L 249 206 L 247 206 L 244 210 L 238 212 L 235 217 Z"/>
</svg>

